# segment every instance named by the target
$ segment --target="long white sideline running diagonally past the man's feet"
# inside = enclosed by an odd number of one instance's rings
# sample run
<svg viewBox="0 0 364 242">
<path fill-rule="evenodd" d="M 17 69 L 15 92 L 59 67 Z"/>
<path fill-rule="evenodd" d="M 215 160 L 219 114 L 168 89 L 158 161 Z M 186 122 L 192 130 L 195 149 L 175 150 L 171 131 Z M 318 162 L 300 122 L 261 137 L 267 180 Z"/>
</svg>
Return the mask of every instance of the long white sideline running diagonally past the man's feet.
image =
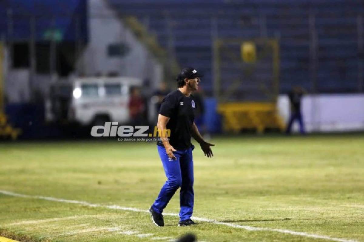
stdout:
<svg viewBox="0 0 364 242">
<path fill-rule="evenodd" d="M 126 210 L 126 211 L 149 213 L 149 211 L 145 210 L 145 209 L 126 208 L 126 207 L 122 207 L 122 206 L 118 206 L 118 205 L 92 204 L 92 203 L 85 202 L 85 201 L 68 200 L 68 199 L 61 199 L 61 198 L 54 198 L 54 197 L 30 196 L 30 195 L 25 195 L 25 194 L 8 192 L 8 191 L 4 191 L 4 190 L 0 190 L 0 193 L 8 195 L 8 196 L 14 196 L 14 197 L 36 198 L 36 199 L 55 201 L 55 202 L 67 202 L 67 203 L 72 203 L 72 204 L 81 204 L 81 205 L 89 206 L 92 208 L 108 208 L 108 209 L 116 209 L 116 210 Z M 178 216 L 177 213 L 163 213 L 163 215 Z M 338 241 L 338 242 L 356 242 L 355 240 L 351 240 L 351 239 L 333 238 L 333 237 L 329 237 L 329 236 L 325 236 L 325 235 L 308 234 L 308 233 L 304 233 L 304 232 L 296 232 L 296 231 L 286 230 L 286 229 L 269 229 L 269 228 L 251 227 L 251 226 L 246 226 L 246 225 L 237 225 L 234 223 L 219 222 L 217 220 L 211 220 L 209 218 L 199 218 L 199 217 L 191 217 L 191 218 L 194 220 L 197 220 L 197 221 L 209 222 L 209 223 L 214 223 L 217 225 L 224 225 L 224 226 L 229 226 L 229 227 L 233 227 L 233 228 L 237 228 L 237 229 L 245 229 L 245 230 L 249 230 L 249 231 L 270 231 L 270 232 L 298 235 L 298 236 L 302 236 L 302 237 L 309 237 L 309 238 L 315 238 L 315 239 L 327 239 L 327 240 Z"/>
</svg>

